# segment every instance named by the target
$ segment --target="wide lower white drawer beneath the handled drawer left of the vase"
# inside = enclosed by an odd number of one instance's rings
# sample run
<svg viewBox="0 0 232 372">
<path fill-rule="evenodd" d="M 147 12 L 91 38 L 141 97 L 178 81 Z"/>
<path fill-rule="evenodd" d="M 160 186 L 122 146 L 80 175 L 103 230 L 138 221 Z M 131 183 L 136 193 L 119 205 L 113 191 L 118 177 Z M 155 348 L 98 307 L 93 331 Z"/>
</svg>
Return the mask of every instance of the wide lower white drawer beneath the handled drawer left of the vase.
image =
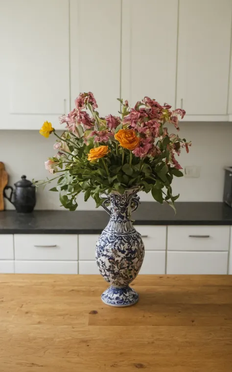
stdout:
<svg viewBox="0 0 232 372">
<path fill-rule="evenodd" d="M 15 273 L 78 274 L 77 261 L 15 261 Z"/>
</svg>

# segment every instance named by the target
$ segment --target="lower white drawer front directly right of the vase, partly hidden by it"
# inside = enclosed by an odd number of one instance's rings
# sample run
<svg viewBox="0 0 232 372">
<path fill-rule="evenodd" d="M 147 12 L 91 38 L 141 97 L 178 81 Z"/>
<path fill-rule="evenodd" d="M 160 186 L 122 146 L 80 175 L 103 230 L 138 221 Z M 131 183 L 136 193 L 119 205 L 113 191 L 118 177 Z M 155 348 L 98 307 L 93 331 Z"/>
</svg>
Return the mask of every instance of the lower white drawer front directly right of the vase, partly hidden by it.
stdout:
<svg viewBox="0 0 232 372">
<path fill-rule="evenodd" d="M 165 274 L 165 252 L 146 251 L 139 274 Z"/>
</svg>

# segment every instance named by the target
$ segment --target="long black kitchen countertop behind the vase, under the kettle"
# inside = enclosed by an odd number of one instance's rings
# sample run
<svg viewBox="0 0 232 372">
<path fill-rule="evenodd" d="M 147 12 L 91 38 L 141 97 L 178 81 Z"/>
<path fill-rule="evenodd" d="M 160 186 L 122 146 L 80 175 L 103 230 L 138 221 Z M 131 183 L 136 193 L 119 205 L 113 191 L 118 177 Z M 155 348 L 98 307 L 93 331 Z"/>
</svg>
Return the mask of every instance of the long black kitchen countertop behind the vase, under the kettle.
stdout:
<svg viewBox="0 0 232 372">
<path fill-rule="evenodd" d="M 135 225 L 232 225 L 232 208 L 224 203 L 179 202 L 177 213 L 168 205 L 142 202 L 132 214 Z M 100 234 L 109 221 L 95 211 L 0 212 L 0 234 Z"/>
</svg>

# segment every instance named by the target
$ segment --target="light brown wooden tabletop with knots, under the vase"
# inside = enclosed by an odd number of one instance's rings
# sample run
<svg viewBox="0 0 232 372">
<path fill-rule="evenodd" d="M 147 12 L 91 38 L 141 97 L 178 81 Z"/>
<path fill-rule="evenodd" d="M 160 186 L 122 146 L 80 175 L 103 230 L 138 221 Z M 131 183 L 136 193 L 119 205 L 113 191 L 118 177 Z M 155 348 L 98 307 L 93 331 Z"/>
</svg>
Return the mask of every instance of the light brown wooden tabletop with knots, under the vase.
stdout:
<svg viewBox="0 0 232 372">
<path fill-rule="evenodd" d="M 0 372 L 232 372 L 232 275 L 140 275 L 139 303 L 96 275 L 0 275 Z"/>
</svg>

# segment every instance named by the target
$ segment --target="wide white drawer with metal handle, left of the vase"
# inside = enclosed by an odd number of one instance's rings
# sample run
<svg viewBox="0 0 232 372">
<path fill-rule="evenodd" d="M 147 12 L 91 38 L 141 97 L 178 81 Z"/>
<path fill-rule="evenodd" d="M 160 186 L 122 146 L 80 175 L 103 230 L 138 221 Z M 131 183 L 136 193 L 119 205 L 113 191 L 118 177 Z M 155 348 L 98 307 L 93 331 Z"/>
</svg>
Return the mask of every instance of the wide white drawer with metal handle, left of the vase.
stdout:
<svg viewBox="0 0 232 372">
<path fill-rule="evenodd" d="M 77 235 L 14 235 L 15 260 L 77 261 Z"/>
</svg>

